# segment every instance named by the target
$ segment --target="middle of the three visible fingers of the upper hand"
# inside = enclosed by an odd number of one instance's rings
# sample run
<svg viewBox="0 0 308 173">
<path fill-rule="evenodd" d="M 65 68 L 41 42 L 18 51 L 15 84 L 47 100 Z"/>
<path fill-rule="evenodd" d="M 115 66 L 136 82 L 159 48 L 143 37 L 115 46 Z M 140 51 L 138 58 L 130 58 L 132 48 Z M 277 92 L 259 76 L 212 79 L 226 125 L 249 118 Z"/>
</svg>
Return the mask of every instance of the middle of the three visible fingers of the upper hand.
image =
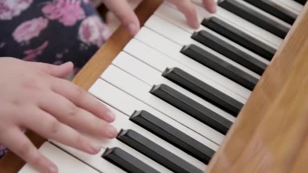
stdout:
<svg viewBox="0 0 308 173">
<path fill-rule="evenodd" d="M 200 24 L 198 22 L 196 9 L 194 4 L 190 0 L 168 0 L 170 3 L 174 4 L 180 12 L 182 12 L 187 20 L 190 27 L 199 28 Z"/>
</svg>

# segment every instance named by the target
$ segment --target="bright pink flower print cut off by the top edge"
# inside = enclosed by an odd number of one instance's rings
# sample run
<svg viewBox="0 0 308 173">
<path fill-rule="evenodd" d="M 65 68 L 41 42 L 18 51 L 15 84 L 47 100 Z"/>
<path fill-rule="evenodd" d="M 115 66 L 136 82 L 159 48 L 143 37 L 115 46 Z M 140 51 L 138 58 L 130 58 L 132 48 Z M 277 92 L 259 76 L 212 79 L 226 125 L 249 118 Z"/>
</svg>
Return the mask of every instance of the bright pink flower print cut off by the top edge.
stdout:
<svg viewBox="0 0 308 173">
<path fill-rule="evenodd" d="M 59 20 L 64 26 L 72 26 L 86 17 L 80 6 L 81 1 L 56 0 L 43 7 L 42 12 L 50 20 Z"/>
</svg>

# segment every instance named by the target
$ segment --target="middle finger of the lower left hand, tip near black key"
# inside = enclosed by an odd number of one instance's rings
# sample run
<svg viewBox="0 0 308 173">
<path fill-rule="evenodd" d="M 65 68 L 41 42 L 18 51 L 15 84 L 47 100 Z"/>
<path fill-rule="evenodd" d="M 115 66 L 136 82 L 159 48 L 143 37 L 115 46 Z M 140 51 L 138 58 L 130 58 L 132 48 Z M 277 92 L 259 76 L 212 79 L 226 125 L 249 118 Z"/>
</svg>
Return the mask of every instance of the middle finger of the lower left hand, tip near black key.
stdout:
<svg viewBox="0 0 308 173">
<path fill-rule="evenodd" d="M 75 106 L 63 96 L 50 92 L 42 97 L 44 99 L 40 101 L 40 108 L 55 116 L 62 123 L 100 138 L 117 137 L 117 129 L 112 125 L 85 109 Z"/>
</svg>

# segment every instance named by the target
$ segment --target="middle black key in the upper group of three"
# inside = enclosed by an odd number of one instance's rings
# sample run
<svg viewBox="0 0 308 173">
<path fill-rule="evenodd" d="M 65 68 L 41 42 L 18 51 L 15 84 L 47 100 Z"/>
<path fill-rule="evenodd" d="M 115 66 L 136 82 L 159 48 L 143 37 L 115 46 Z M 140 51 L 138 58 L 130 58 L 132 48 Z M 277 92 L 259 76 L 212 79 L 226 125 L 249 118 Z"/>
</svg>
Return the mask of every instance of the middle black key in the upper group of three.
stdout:
<svg viewBox="0 0 308 173">
<path fill-rule="evenodd" d="M 191 38 L 259 75 L 262 75 L 267 67 L 267 65 L 262 61 L 252 57 L 241 49 L 235 47 L 233 44 L 229 44 L 218 36 L 205 30 L 195 32 Z"/>
</svg>

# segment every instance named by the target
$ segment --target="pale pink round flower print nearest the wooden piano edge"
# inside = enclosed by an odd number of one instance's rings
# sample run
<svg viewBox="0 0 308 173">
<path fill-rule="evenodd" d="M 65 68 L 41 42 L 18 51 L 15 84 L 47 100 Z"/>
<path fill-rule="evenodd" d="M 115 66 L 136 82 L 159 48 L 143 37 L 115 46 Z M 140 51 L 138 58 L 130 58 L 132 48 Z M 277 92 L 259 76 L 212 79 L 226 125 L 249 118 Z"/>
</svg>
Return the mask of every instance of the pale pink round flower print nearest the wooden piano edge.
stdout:
<svg viewBox="0 0 308 173">
<path fill-rule="evenodd" d="M 87 17 L 79 28 L 79 39 L 87 45 L 101 47 L 109 36 L 109 29 L 97 16 Z"/>
</svg>

